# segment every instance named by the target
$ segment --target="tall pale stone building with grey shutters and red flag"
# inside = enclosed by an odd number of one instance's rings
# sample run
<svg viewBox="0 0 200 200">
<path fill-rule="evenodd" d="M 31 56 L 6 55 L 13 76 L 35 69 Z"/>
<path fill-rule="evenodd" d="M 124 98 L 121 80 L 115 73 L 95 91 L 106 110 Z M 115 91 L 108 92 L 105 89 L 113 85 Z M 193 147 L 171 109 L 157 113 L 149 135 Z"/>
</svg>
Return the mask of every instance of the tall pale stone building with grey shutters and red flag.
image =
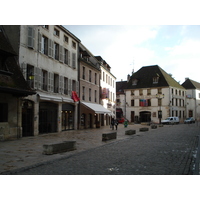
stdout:
<svg viewBox="0 0 200 200">
<path fill-rule="evenodd" d="M 80 40 L 60 25 L 4 26 L 25 80 L 36 91 L 22 104 L 23 136 L 77 129 Z"/>
</svg>

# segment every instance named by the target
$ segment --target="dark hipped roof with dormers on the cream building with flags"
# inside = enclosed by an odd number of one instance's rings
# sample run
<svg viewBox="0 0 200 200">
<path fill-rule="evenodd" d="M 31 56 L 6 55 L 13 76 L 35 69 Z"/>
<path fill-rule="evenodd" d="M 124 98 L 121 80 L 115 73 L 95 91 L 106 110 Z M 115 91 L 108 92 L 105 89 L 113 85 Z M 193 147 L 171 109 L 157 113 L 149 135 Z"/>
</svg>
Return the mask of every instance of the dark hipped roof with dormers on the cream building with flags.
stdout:
<svg viewBox="0 0 200 200">
<path fill-rule="evenodd" d="M 153 78 L 158 77 L 158 83 L 153 83 Z M 137 80 L 137 84 L 133 85 L 133 80 Z M 176 87 L 184 89 L 177 81 L 167 74 L 158 65 L 144 66 L 134 73 L 129 82 L 127 89 L 136 88 L 157 88 L 157 87 Z"/>
</svg>

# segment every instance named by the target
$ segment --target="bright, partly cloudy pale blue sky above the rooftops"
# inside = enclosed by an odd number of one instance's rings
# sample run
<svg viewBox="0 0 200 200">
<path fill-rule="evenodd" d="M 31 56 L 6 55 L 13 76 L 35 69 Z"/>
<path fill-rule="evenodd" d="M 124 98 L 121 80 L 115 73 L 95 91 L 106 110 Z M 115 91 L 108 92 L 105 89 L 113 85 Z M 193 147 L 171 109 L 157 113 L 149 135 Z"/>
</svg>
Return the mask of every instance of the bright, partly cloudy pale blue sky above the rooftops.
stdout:
<svg viewBox="0 0 200 200">
<path fill-rule="evenodd" d="M 111 67 L 117 81 L 159 65 L 181 84 L 200 82 L 200 25 L 64 25 Z"/>
</svg>

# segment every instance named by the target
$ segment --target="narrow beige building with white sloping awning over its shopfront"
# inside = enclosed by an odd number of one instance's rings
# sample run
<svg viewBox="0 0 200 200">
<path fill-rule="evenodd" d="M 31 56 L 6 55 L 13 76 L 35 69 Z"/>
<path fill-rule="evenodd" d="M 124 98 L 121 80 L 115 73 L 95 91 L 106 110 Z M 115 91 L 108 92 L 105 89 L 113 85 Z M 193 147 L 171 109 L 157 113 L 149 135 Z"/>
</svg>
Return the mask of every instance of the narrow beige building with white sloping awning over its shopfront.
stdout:
<svg viewBox="0 0 200 200">
<path fill-rule="evenodd" d="M 100 104 L 100 62 L 81 43 L 79 65 L 79 128 L 99 128 L 111 112 Z"/>
</svg>

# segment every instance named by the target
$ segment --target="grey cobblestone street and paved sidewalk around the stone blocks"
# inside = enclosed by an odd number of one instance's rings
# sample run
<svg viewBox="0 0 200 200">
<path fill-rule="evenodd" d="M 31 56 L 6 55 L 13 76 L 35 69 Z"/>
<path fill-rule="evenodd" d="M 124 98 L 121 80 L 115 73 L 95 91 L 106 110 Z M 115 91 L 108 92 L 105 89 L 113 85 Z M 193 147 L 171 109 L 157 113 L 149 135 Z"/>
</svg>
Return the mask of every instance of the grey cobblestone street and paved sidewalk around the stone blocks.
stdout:
<svg viewBox="0 0 200 200">
<path fill-rule="evenodd" d="M 166 125 L 151 129 L 148 132 L 139 132 L 141 125 L 130 125 L 128 129 L 135 129 L 136 135 L 127 136 L 125 128 L 119 126 L 117 139 L 109 142 L 101 141 L 102 132 L 109 130 L 93 129 L 78 132 L 64 132 L 25 138 L 18 152 L 20 156 L 12 158 L 10 165 L 32 158 L 32 166 L 24 170 L 4 172 L 3 174 L 34 174 L 34 175 L 181 175 L 192 174 L 193 157 L 195 156 L 197 135 L 200 127 L 192 125 Z M 62 136 L 61 136 L 62 135 Z M 43 140 L 45 138 L 45 140 Z M 42 155 L 41 145 L 45 142 L 75 139 L 77 150 L 56 154 Z M 32 140 L 32 142 L 31 142 Z M 40 142 L 36 142 L 40 141 Z M 14 141 L 12 141 L 14 142 Z M 23 151 L 23 144 L 29 149 Z M 9 142 L 7 142 L 9 143 Z M 4 143 L 3 143 L 4 144 Z M 15 144 L 15 143 L 12 143 Z M 25 148 L 25 147 L 24 147 Z M 37 149 L 35 151 L 35 149 Z M 86 150 L 86 151 L 85 151 Z M 5 151 L 5 149 L 4 149 Z M 33 154 L 35 152 L 35 154 Z M 8 153 L 7 153 L 8 155 Z M 23 155 L 23 157 L 22 157 Z M 2 155 L 1 148 L 1 157 Z M 47 159 L 48 158 L 48 159 Z M 35 164 L 33 160 L 35 159 Z M 5 159 L 4 159 L 5 161 Z M 48 161 L 48 162 L 44 162 Z M 43 163 L 42 163 L 43 162 Z M 2 163 L 2 161 L 1 161 Z M 4 166 L 6 163 L 4 163 Z M 9 164 L 9 162 L 7 162 Z M 28 162 L 30 165 L 30 162 Z M 18 165 L 19 167 L 19 165 Z M 2 169 L 2 168 L 1 168 Z M 4 169 L 7 169 L 6 167 Z"/>
</svg>

